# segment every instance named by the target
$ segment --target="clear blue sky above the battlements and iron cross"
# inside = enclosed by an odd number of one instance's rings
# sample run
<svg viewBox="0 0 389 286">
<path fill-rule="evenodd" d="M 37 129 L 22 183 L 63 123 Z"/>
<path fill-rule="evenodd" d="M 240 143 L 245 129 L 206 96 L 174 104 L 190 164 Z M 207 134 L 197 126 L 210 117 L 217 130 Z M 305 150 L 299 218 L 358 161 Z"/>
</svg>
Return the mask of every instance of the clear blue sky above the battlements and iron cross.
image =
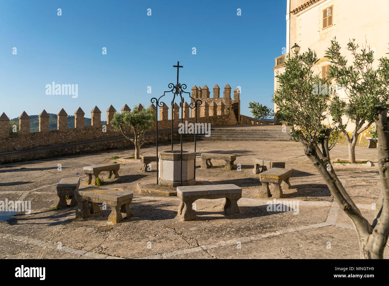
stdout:
<svg viewBox="0 0 389 286">
<path fill-rule="evenodd" d="M 1 0 L 0 114 L 64 108 L 73 115 L 81 106 L 90 117 L 97 105 L 105 120 L 110 104 L 118 111 L 125 103 L 149 106 L 175 83 L 172 66 L 180 61 L 187 91 L 207 84 L 212 95 L 215 84 L 221 93 L 227 83 L 241 86 L 241 113 L 251 116 L 249 101 L 273 108 L 272 67 L 286 45 L 285 14 L 285 0 Z M 78 84 L 78 97 L 46 95 L 51 82 Z"/>
</svg>

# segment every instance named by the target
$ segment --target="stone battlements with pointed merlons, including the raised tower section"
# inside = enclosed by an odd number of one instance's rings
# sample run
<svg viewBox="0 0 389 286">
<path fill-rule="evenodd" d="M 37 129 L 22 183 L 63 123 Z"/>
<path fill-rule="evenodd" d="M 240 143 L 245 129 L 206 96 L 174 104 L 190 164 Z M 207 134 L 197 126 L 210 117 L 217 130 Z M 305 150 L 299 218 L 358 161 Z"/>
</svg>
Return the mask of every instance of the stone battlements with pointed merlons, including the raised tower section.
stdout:
<svg viewBox="0 0 389 286">
<path fill-rule="evenodd" d="M 195 87 L 194 87 L 195 88 Z M 226 85 L 223 92 L 223 98 L 220 98 L 220 89 L 217 85 L 214 87 L 213 98 L 209 98 L 209 91 L 207 85 L 203 89 L 192 88 L 192 96 L 200 98 L 203 104 L 198 107 L 197 122 L 210 123 L 212 126 L 228 126 L 239 122 L 240 101 L 238 89 L 234 91 L 234 98 L 231 99 L 231 87 Z M 235 104 L 235 107 L 232 105 Z M 151 104 L 156 115 L 157 108 Z M 143 108 L 138 105 L 137 108 Z M 169 112 L 170 109 L 170 112 Z M 121 111 L 131 108 L 124 105 Z M 232 111 L 232 112 L 231 112 Z M 67 112 L 62 108 L 57 114 L 57 130 L 49 130 L 49 114 L 43 110 L 39 115 L 39 132 L 30 132 L 30 117 L 23 111 L 19 116 L 19 134 L 10 134 L 9 118 L 5 113 L 0 116 L 0 152 L 10 152 L 16 150 L 60 145 L 67 143 L 76 143 L 88 140 L 96 140 L 110 137 L 122 136 L 113 130 L 110 121 L 116 109 L 110 105 L 107 109 L 107 124 L 101 125 L 101 111 L 95 106 L 91 110 L 91 126 L 84 126 L 85 112 L 81 107 L 74 112 L 74 126 L 75 128 L 67 128 Z M 170 116 L 169 114 L 170 113 Z M 194 109 L 189 108 L 187 102 L 184 103 L 183 119 L 188 122 L 195 122 Z M 180 122 L 179 106 L 175 103 L 173 112 L 171 106 L 162 106 L 159 108 L 158 129 L 170 129 L 171 120 L 173 118 L 173 126 L 177 126 Z M 155 131 L 155 126 L 149 131 Z"/>
</svg>

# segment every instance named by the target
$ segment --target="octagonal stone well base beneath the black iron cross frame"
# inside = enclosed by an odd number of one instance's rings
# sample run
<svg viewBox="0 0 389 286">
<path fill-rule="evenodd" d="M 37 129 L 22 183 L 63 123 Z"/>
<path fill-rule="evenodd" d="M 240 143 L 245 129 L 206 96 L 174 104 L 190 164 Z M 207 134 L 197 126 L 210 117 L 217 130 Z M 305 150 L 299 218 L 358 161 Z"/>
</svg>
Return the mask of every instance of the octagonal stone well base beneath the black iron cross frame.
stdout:
<svg viewBox="0 0 389 286">
<path fill-rule="evenodd" d="M 182 151 L 182 186 L 196 185 L 196 152 Z M 180 185 L 180 150 L 158 152 L 159 183 L 177 187 Z"/>
</svg>

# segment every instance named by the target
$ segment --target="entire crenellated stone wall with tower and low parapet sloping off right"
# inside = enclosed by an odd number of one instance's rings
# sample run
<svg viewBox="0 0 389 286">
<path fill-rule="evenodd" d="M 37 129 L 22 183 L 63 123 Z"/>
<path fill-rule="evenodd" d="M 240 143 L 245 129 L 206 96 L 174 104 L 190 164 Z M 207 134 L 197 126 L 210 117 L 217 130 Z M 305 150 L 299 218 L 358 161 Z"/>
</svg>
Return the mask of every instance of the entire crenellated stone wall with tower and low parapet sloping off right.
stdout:
<svg viewBox="0 0 389 286">
<path fill-rule="evenodd" d="M 226 84 L 224 87 L 223 97 L 220 97 L 220 88 L 217 84 L 213 87 L 212 97 L 210 97 L 211 92 L 209 91 L 207 85 L 204 85 L 202 88 L 196 87 L 195 85 L 192 87 L 191 91 L 193 98 L 201 99 L 203 101 L 202 105 L 198 106 L 197 109 L 198 123 L 210 123 L 212 127 L 229 126 L 235 125 L 237 123 L 263 124 L 260 123 L 259 120 L 240 115 L 240 92 L 238 88 L 233 91 L 233 99 L 231 99 L 231 87 L 229 84 Z M 191 105 L 187 102 L 184 102 L 184 122 L 187 121 L 188 123 L 195 123 L 195 109 L 190 108 L 190 106 L 193 106 L 192 104 L 193 99 L 191 100 Z M 178 129 L 178 124 L 181 122 L 181 119 L 179 118 L 181 113 L 177 104 L 174 104 L 173 109 L 171 106 L 164 105 L 159 108 L 159 111 L 154 104 L 151 104 L 149 107 L 154 110 L 155 115 L 157 112 L 159 112 L 158 130 L 161 131 L 161 133 L 165 134 L 163 130 L 170 130 L 172 126 L 172 118 L 173 128 Z M 143 106 L 139 104 L 135 108 L 142 109 Z M 128 107 L 128 105 L 124 105 L 123 108 L 121 108 L 121 112 L 124 110 L 131 111 L 131 108 Z M 122 134 L 120 132 L 114 131 L 110 124 L 110 121 L 116 112 L 114 106 L 110 105 L 106 112 L 107 124 L 101 125 L 101 111 L 97 106 L 93 107 L 91 110 L 92 125 L 84 126 L 85 112 L 81 107 L 79 107 L 74 112 L 75 128 L 68 129 L 68 114 L 62 108 L 57 114 L 57 130 L 49 130 L 49 115 L 47 114 L 46 110 L 43 110 L 39 115 L 39 132 L 30 132 L 30 117 L 25 111 L 23 111 L 19 117 L 19 134 L 9 133 L 10 120 L 7 115 L 5 115 L 5 113 L 2 113 L 0 116 L 0 153 L 3 153 L 2 156 L 6 155 L 8 158 L 13 158 L 11 160 L 17 160 L 19 157 L 22 158 L 21 160 L 24 160 L 26 159 L 26 157 L 23 157 L 24 155 L 16 155 L 18 154 L 18 151 L 27 154 L 29 152 L 36 153 L 37 150 L 40 150 L 35 149 L 35 151 L 32 151 L 34 148 L 41 148 L 42 150 L 50 149 L 51 151 L 38 152 L 40 154 L 39 156 L 50 157 L 50 154 L 66 155 L 93 150 L 98 151 L 107 150 L 109 148 L 124 148 L 125 146 L 130 146 L 132 142 L 129 141 L 129 145 L 124 143 L 126 141 L 124 140 Z M 148 131 L 149 135 L 147 137 L 149 142 L 153 141 L 152 136 L 155 137 L 155 134 L 153 135 L 152 133 L 152 131 L 155 131 L 155 129 L 156 124 L 154 124 L 154 126 Z M 130 130 L 127 131 L 128 134 L 132 134 Z M 165 137 L 166 136 L 167 135 L 165 135 Z M 163 138 L 164 137 L 162 136 L 161 139 L 163 140 Z M 88 143 L 86 142 L 88 141 L 93 141 L 93 146 L 95 147 L 87 147 Z M 61 145 L 67 146 L 66 152 L 61 151 Z M 80 146 L 84 147 L 81 148 Z M 10 155 L 10 153 L 12 154 Z M 31 159 L 34 158 L 34 156 L 36 157 L 36 155 L 30 154 L 27 157 Z M 4 159 L 0 160 L 0 162 L 8 162 L 8 160 Z"/>
</svg>

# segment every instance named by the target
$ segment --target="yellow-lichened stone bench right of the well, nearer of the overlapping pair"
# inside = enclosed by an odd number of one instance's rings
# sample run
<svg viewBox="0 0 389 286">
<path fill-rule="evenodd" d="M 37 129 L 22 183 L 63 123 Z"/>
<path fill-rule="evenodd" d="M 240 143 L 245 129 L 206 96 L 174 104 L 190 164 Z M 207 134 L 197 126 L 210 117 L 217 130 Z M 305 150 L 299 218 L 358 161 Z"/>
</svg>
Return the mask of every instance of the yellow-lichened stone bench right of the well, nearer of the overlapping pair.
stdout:
<svg viewBox="0 0 389 286">
<path fill-rule="evenodd" d="M 281 183 L 284 182 L 288 189 L 291 188 L 289 178 L 292 174 L 291 169 L 272 168 L 261 174 L 259 174 L 259 181 L 262 183 L 261 190 L 259 191 L 260 198 L 282 198 Z M 272 193 L 270 194 L 269 183 L 272 183 Z"/>
</svg>

